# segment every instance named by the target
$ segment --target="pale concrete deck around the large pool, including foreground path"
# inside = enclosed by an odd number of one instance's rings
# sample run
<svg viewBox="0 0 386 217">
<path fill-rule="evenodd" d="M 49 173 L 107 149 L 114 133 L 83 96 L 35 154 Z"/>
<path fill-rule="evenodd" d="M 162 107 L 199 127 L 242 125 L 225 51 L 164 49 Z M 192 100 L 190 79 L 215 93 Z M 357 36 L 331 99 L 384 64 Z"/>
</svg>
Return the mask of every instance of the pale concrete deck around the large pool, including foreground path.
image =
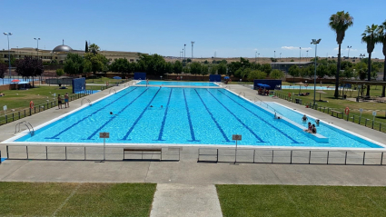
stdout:
<svg viewBox="0 0 386 217">
<path fill-rule="evenodd" d="M 326 113 L 320 113 L 281 99 L 257 95 L 250 87 L 228 85 L 235 94 L 243 92 L 253 101 L 276 102 L 307 113 L 327 123 L 333 123 L 353 133 L 358 133 L 379 143 L 385 143 L 386 134 L 359 124 L 348 123 Z M 228 89 L 229 89 L 228 87 Z M 116 91 L 124 85 L 115 86 Z M 92 102 L 109 94 L 104 90 L 87 96 Z M 243 94 L 242 94 L 243 95 Z M 70 103 L 70 108 L 46 110 L 26 117 L 23 121 L 34 126 L 50 121 L 64 113 L 81 107 L 81 100 Z M 0 142 L 14 136 L 15 123 L 0 126 Z M 0 182 L 153 182 L 159 183 L 154 196 L 151 216 L 173 216 L 190 212 L 192 216 L 221 216 L 213 184 L 293 184 L 293 185 L 386 185 L 386 167 L 362 165 L 308 165 L 259 163 L 197 163 L 198 147 L 183 146 L 180 162 L 84 162 L 84 161 L 25 161 L 7 160 L 0 164 Z M 0 143 L 3 157 L 6 144 Z M 209 191 L 209 193 L 204 193 Z M 202 192 L 196 193 L 196 192 Z M 181 193 L 202 200 L 184 200 Z M 180 195 L 180 196 L 173 196 Z M 165 209 L 174 204 L 178 212 Z M 178 205 L 175 205 L 178 204 Z M 198 209 L 208 212 L 194 213 Z M 214 212 L 212 212 L 214 211 Z M 220 213 L 219 213 L 220 212 Z M 208 215 L 206 215 L 208 216 Z"/>
</svg>

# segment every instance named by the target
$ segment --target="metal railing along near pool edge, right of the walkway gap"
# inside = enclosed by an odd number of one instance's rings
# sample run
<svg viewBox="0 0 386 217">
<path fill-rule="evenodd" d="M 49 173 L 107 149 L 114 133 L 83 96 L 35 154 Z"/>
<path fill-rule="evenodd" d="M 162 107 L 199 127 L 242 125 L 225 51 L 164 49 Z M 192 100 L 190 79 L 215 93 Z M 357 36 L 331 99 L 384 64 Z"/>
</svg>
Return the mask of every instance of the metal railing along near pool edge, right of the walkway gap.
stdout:
<svg viewBox="0 0 386 217">
<path fill-rule="evenodd" d="M 199 163 L 384 165 L 382 151 L 200 148 Z"/>
</svg>

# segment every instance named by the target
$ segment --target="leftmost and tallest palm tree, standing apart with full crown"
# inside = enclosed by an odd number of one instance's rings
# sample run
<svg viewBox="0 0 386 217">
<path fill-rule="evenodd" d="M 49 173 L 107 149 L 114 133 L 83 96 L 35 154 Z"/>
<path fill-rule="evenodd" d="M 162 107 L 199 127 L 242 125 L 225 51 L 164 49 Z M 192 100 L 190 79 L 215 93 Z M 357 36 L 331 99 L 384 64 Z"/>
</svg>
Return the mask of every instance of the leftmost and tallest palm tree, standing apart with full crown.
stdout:
<svg viewBox="0 0 386 217">
<path fill-rule="evenodd" d="M 339 96 L 339 73 L 341 71 L 341 42 L 344 39 L 344 35 L 346 34 L 346 30 L 353 24 L 352 16 L 344 11 L 339 11 L 335 15 L 330 17 L 330 27 L 336 33 L 336 42 L 339 44 L 339 53 L 338 53 L 338 65 L 337 72 L 335 74 L 335 98 Z"/>
</svg>

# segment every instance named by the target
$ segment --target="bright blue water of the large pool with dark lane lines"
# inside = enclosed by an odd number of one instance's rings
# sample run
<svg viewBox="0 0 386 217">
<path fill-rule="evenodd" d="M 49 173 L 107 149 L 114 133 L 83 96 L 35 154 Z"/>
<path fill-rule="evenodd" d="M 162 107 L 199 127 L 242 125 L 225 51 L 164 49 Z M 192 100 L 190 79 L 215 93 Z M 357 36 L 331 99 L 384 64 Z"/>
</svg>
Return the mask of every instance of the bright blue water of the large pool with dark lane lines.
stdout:
<svg viewBox="0 0 386 217">
<path fill-rule="evenodd" d="M 110 133 L 106 143 L 229 145 L 238 133 L 241 145 L 379 147 L 341 134 L 333 134 L 332 143 L 317 143 L 310 134 L 223 89 L 144 86 L 124 89 L 16 142 L 103 143 L 101 132 Z M 327 131 L 322 135 L 332 136 Z"/>
</svg>

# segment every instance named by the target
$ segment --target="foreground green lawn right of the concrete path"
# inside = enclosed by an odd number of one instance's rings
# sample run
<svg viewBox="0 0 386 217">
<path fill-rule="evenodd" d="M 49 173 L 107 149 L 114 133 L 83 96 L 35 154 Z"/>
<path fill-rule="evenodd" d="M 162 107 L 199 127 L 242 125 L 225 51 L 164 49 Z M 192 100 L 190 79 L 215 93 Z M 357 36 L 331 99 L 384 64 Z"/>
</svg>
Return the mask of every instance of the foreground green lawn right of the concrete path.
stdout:
<svg viewBox="0 0 386 217">
<path fill-rule="evenodd" d="M 386 216 L 386 187 L 216 185 L 223 216 Z"/>
</svg>

